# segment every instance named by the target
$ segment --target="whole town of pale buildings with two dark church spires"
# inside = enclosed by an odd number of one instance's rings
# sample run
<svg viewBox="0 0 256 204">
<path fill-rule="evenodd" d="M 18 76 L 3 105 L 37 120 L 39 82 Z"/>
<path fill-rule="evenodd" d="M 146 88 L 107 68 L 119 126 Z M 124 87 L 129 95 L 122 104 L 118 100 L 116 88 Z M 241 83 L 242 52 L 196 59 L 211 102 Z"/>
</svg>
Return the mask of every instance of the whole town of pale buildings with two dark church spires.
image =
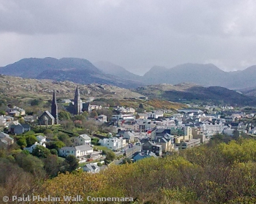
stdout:
<svg viewBox="0 0 256 204">
<path fill-rule="evenodd" d="M 45 169 L 50 176 L 66 170 L 99 173 L 108 165 L 173 155 L 214 137 L 256 136 L 256 110 L 248 107 L 187 104 L 178 110 L 148 111 L 143 106 L 147 97 L 137 99 L 138 106 L 100 98 L 83 101 L 78 86 L 73 99 L 58 97 L 54 90 L 50 108 L 39 115 L 7 104 L 0 116 L 0 147 L 11 149 L 13 159 L 19 154 L 55 156 L 58 167 Z M 32 107 L 39 103 L 31 101 Z"/>
</svg>

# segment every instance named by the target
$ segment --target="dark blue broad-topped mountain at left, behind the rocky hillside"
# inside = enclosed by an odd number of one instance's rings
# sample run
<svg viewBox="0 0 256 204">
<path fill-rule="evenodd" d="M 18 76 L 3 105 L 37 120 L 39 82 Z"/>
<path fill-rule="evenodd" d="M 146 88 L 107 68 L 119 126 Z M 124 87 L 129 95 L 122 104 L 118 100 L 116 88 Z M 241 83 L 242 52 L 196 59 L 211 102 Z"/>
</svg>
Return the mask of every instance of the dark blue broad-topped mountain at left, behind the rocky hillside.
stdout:
<svg viewBox="0 0 256 204">
<path fill-rule="evenodd" d="M 143 85 L 129 78 L 122 79 L 105 74 L 83 58 L 24 58 L 14 64 L 0 67 L 0 73 L 21 78 L 70 80 L 82 84 L 104 83 L 124 88 Z"/>
</svg>

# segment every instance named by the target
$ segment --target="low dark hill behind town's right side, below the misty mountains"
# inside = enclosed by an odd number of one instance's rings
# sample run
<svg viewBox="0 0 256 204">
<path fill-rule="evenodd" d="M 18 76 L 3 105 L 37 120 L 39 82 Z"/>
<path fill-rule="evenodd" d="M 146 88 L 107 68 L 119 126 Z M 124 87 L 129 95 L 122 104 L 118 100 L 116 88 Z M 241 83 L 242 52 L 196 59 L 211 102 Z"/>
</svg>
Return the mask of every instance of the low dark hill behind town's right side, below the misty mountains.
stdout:
<svg viewBox="0 0 256 204">
<path fill-rule="evenodd" d="M 149 98 L 165 99 L 172 102 L 201 102 L 219 105 L 256 105 L 256 98 L 220 86 L 203 87 L 195 84 L 180 83 L 175 86 L 159 84 L 139 87 L 135 90 Z"/>
</svg>

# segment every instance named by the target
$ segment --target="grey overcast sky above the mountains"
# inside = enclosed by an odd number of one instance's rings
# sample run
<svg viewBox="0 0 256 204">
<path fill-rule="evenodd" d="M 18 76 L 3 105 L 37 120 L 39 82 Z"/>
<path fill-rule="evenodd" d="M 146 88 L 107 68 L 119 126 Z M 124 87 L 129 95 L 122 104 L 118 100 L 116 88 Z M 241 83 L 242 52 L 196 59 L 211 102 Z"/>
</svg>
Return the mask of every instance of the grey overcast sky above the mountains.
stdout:
<svg viewBox="0 0 256 204">
<path fill-rule="evenodd" d="M 254 0 L 0 0 L 0 67 L 21 58 L 154 65 L 256 64 Z"/>
</svg>

